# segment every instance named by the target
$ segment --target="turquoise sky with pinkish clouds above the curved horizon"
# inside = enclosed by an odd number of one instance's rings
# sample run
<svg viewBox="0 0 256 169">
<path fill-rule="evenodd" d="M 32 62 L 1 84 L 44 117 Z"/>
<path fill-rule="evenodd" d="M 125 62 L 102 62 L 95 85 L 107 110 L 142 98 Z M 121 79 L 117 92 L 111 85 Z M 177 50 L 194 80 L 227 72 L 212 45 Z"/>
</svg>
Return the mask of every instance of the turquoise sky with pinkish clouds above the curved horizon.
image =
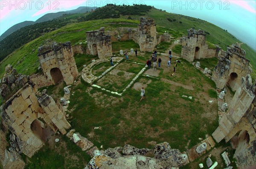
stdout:
<svg viewBox="0 0 256 169">
<path fill-rule="evenodd" d="M 0 0 L 0 35 L 13 25 L 44 14 L 76 9 L 146 4 L 213 23 L 256 50 L 256 0 Z"/>
</svg>

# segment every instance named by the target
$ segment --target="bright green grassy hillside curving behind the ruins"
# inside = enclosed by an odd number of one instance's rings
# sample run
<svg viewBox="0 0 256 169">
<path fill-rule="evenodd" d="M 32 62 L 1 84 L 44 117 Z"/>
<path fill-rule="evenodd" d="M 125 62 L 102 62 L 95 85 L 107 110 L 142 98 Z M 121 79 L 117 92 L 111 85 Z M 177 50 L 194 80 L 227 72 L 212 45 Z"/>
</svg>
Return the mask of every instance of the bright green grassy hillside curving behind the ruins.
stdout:
<svg viewBox="0 0 256 169">
<path fill-rule="evenodd" d="M 120 6 L 117 7 L 120 8 Z M 105 8 L 113 9 L 114 7 L 109 6 Z M 87 16 L 84 16 L 82 14 L 70 15 L 67 16 L 67 18 L 64 18 L 64 20 L 87 20 L 92 16 L 98 16 L 99 14 L 104 12 L 105 8 L 98 8 L 96 12 L 90 13 Z M 232 34 L 228 33 L 222 28 L 219 28 L 216 25 L 213 25 L 212 23 L 208 23 L 207 21 L 179 14 L 168 13 L 166 11 L 161 11 L 156 8 L 152 8 L 148 12 L 147 11 L 148 8 L 146 8 L 142 14 L 154 19 L 155 23 L 157 24 L 157 31 L 159 34 L 164 33 L 164 31 L 168 31 L 170 34 L 172 34 L 172 37 L 179 39 L 182 35 L 187 34 L 187 29 L 200 28 L 207 33 L 208 42 L 219 45 L 223 50 L 227 49 L 227 45 L 232 45 L 236 42 L 241 43 L 241 41 L 236 39 L 236 37 L 234 37 Z M 104 16 L 111 17 L 109 15 Z M 44 42 L 45 39 L 51 38 L 57 42 L 71 41 L 72 45 L 75 45 L 76 43 L 86 41 L 85 31 L 99 29 L 103 26 L 105 26 L 106 30 L 114 30 L 116 27 L 137 27 L 137 24 L 139 23 L 139 17 L 140 15 L 120 15 L 119 19 L 110 18 L 85 21 L 81 23 L 70 23 L 69 25 L 65 25 L 55 31 L 51 31 L 41 37 L 38 37 L 37 39 L 27 43 L 26 45 L 23 45 L 21 48 L 10 54 L 0 63 L 1 76 L 4 73 L 5 66 L 8 64 L 14 65 L 19 72 L 23 72 L 24 74 L 35 73 L 39 66 L 37 49 L 42 44 L 42 42 Z M 244 50 L 246 51 L 246 57 L 250 60 L 250 63 L 253 66 L 253 76 L 256 77 L 256 52 L 253 51 L 253 49 L 248 47 L 246 44 L 241 45 L 241 47 L 244 48 Z M 33 49 L 35 50 L 35 52 L 32 52 Z M 17 62 L 19 61 L 23 62 L 17 65 Z"/>
</svg>

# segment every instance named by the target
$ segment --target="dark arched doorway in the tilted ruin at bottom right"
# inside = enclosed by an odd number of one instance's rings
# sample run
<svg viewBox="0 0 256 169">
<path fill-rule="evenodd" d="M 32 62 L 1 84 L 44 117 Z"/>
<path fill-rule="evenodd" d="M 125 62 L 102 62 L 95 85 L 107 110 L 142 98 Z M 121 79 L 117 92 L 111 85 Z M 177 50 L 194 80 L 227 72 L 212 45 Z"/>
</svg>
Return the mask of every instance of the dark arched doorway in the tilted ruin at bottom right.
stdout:
<svg viewBox="0 0 256 169">
<path fill-rule="evenodd" d="M 240 132 L 237 132 L 237 134 L 230 141 L 233 144 L 233 148 L 236 149 L 233 157 L 235 158 L 240 152 L 243 152 L 247 148 L 250 141 L 250 135 L 248 134 L 247 130 L 240 130 Z"/>
</svg>

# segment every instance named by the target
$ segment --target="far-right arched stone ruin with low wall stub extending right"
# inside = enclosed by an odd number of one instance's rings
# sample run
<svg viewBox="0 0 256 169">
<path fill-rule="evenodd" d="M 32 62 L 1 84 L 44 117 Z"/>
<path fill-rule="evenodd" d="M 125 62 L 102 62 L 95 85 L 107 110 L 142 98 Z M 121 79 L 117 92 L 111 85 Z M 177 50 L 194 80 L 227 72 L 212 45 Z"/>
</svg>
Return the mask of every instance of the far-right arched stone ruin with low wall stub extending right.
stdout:
<svg viewBox="0 0 256 169">
<path fill-rule="evenodd" d="M 182 45 L 181 57 L 189 62 L 194 59 L 218 57 L 221 53 L 221 48 L 216 45 L 216 49 L 208 49 L 206 43 L 206 34 L 203 30 L 196 31 L 191 28 L 188 30 L 188 36 L 180 38 Z"/>
</svg>

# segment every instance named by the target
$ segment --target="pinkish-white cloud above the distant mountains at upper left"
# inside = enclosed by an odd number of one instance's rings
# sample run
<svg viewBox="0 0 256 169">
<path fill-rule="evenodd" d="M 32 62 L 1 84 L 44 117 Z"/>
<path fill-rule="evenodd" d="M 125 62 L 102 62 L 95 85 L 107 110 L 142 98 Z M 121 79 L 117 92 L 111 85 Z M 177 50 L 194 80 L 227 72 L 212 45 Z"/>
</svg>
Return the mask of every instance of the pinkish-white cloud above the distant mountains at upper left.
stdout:
<svg viewBox="0 0 256 169">
<path fill-rule="evenodd" d="M 55 0 L 44 2 L 44 7 L 32 15 L 32 17 L 38 16 L 40 14 L 45 14 L 49 12 L 64 11 L 66 9 L 72 8 L 74 6 L 79 6 L 85 3 L 86 0 Z M 39 6 L 41 7 L 41 6 Z"/>
</svg>

